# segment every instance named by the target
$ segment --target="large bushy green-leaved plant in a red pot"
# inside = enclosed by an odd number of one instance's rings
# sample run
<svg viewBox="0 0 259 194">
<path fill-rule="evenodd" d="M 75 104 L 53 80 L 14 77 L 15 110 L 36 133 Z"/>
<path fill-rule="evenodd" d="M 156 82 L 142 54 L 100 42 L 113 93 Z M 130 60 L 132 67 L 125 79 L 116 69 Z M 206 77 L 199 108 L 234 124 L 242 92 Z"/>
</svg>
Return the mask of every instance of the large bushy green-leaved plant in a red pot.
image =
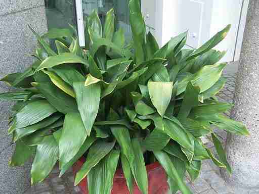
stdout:
<svg viewBox="0 0 259 194">
<path fill-rule="evenodd" d="M 139 0 L 129 4 L 133 41 L 114 33 L 114 13 L 102 28 L 96 11 L 85 25 L 86 46 L 76 31 L 35 31 L 36 62 L 2 79 L 19 90 L 2 93 L 16 104 L 8 132 L 16 149 L 10 166 L 34 157 L 32 184 L 59 161 L 60 176 L 73 166 L 83 193 L 191 193 L 202 160 L 231 173 L 213 127 L 248 135 L 242 123 L 224 116 L 232 105 L 215 97 L 224 86 L 226 52 L 212 48 L 230 26 L 197 50 L 183 49 L 187 32 L 159 48 L 146 33 Z M 54 39 L 56 51 L 46 39 Z M 218 157 L 202 136 L 211 136 Z"/>
</svg>

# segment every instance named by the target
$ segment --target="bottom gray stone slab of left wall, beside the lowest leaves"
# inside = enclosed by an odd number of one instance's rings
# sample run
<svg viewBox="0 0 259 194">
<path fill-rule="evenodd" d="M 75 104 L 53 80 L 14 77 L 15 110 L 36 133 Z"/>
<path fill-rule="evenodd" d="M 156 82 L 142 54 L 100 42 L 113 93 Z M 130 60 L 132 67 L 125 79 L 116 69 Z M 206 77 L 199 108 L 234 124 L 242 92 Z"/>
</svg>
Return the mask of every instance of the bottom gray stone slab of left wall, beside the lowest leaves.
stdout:
<svg viewBox="0 0 259 194">
<path fill-rule="evenodd" d="M 10 160 L 15 145 L 0 153 L 0 194 L 22 194 L 30 185 L 30 163 L 22 167 L 9 168 Z"/>
</svg>

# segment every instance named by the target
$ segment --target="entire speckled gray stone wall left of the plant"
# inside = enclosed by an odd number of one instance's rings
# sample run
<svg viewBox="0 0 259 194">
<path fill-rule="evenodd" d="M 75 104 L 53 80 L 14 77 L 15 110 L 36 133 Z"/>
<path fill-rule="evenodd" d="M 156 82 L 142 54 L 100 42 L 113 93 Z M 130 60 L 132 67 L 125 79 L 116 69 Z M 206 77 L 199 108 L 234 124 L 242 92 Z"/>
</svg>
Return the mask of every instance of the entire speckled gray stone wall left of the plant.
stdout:
<svg viewBox="0 0 259 194">
<path fill-rule="evenodd" d="M 0 77 L 22 72 L 33 62 L 36 39 L 29 30 L 31 25 L 38 33 L 46 32 L 44 0 L 0 1 Z M 11 88 L 0 83 L 0 92 Z M 0 193 L 23 193 L 30 183 L 29 163 L 19 168 L 9 168 L 15 144 L 8 135 L 8 117 L 11 103 L 0 101 Z"/>
</svg>

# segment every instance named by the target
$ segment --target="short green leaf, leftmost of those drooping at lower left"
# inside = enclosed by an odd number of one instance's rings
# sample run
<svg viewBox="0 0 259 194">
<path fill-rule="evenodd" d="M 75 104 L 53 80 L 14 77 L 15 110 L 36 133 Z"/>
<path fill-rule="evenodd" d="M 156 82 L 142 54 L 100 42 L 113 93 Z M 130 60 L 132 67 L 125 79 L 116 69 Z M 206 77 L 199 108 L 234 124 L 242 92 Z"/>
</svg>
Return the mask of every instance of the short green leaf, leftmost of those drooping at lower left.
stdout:
<svg viewBox="0 0 259 194">
<path fill-rule="evenodd" d="M 26 161 L 29 160 L 29 158 L 32 157 L 32 155 L 35 153 L 36 148 L 35 147 L 29 147 L 24 142 L 23 139 L 20 139 L 16 142 L 15 150 L 12 155 L 11 160 L 9 161 L 9 166 L 21 166 Z"/>
</svg>

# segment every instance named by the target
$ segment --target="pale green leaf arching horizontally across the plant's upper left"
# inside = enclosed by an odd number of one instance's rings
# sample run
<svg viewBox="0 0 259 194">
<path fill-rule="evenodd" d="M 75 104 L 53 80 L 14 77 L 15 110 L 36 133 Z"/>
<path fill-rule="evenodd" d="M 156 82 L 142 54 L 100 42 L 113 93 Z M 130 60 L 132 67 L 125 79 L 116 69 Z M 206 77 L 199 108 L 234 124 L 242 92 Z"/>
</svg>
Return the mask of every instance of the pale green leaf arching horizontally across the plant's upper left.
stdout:
<svg viewBox="0 0 259 194">
<path fill-rule="evenodd" d="M 83 65 L 89 66 L 88 62 L 84 59 L 74 55 L 73 53 L 62 53 L 58 56 L 48 57 L 38 66 L 35 72 L 41 69 L 55 67 L 61 64 L 67 63 L 81 63 Z"/>
</svg>

